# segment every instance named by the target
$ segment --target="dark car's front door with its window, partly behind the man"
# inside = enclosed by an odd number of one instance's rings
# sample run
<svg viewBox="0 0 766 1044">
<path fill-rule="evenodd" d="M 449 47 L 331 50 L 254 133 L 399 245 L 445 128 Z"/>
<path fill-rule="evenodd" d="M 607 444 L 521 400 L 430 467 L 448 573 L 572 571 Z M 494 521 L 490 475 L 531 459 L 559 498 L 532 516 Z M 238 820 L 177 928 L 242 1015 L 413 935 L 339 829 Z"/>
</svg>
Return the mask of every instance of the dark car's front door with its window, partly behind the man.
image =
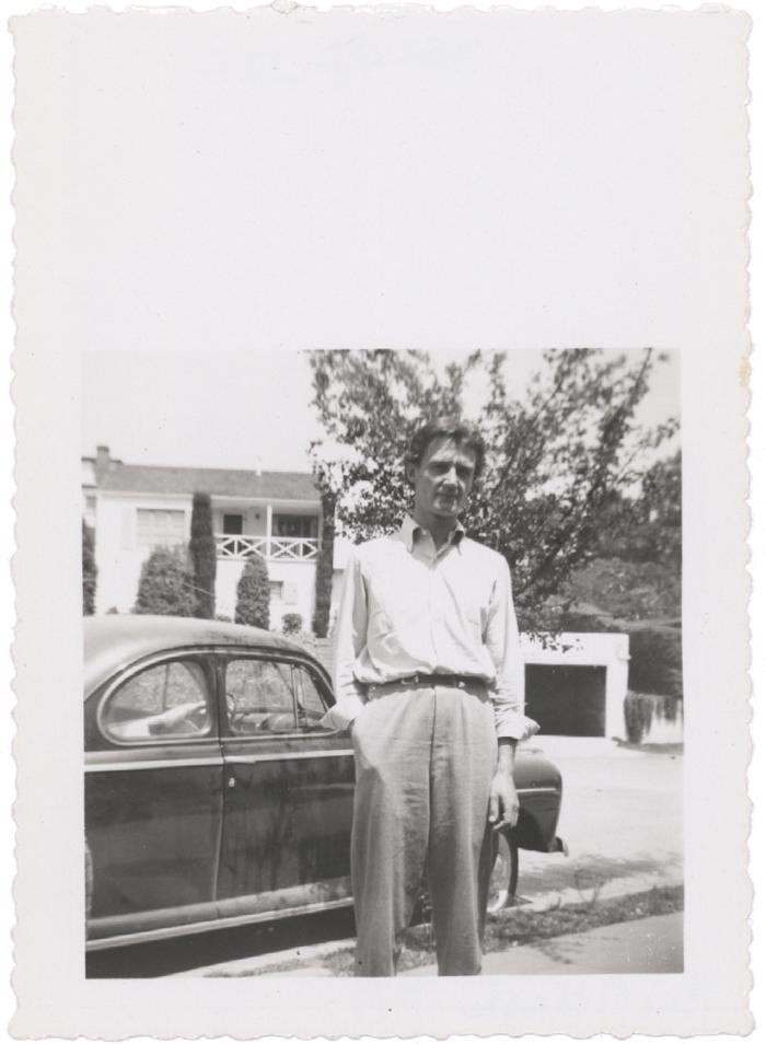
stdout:
<svg viewBox="0 0 766 1044">
<path fill-rule="evenodd" d="M 220 653 L 224 815 L 222 917 L 350 903 L 353 756 L 318 722 L 327 683 L 310 660 Z"/>
</svg>

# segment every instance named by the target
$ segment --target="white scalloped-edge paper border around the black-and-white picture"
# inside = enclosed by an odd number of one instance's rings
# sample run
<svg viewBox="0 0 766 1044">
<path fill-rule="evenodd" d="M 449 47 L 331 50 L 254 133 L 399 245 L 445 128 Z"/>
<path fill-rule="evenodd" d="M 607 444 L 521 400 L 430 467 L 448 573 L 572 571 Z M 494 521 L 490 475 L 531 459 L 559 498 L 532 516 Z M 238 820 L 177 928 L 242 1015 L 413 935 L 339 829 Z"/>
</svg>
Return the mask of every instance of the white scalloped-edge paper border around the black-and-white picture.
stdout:
<svg viewBox="0 0 766 1044">
<path fill-rule="evenodd" d="M 746 1031 L 747 18 L 295 8 L 12 28 L 13 1032 Z M 684 974 L 301 981 L 300 1004 L 290 981 L 85 981 L 82 352 L 583 345 L 682 353 Z"/>
</svg>

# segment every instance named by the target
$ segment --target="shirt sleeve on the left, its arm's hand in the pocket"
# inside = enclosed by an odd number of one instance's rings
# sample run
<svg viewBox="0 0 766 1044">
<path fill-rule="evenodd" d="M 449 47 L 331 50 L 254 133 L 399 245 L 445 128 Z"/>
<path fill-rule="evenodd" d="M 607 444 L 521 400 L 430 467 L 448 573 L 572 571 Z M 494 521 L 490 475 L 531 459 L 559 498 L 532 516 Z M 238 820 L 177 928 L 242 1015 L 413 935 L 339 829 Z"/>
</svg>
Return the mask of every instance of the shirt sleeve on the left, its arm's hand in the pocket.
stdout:
<svg viewBox="0 0 766 1044">
<path fill-rule="evenodd" d="M 321 724 L 326 729 L 348 729 L 364 705 L 365 686 L 353 675 L 353 665 L 367 642 L 367 591 L 361 562 L 352 550 L 340 594 L 335 624 L 335 706 L 330 707 Z"/>
</svg>

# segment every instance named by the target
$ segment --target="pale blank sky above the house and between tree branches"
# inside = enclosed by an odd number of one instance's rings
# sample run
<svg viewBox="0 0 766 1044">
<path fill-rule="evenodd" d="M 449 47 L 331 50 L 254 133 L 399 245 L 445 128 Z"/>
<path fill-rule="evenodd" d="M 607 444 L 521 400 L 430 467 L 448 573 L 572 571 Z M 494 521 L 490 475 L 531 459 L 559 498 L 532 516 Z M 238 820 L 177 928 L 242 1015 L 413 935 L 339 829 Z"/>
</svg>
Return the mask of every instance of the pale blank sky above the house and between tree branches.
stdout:
<svg viewBox="0 0 766 1044">
<path fill-rule="evenodd" d="M 653 371 L 643 424 L 678 414 L 680 360 L 670 355 Z M 538 351 L 512 352 L 512 396 L 523 396 L 541 363 Z M 471 414 L 476 402 L 466 398 Z M 321 434 L 311 401 L 302 352 L 83 352 L 82 454 L 108 445 L 126 464 L 304 471 L 307 446 Z"/>
</svg>

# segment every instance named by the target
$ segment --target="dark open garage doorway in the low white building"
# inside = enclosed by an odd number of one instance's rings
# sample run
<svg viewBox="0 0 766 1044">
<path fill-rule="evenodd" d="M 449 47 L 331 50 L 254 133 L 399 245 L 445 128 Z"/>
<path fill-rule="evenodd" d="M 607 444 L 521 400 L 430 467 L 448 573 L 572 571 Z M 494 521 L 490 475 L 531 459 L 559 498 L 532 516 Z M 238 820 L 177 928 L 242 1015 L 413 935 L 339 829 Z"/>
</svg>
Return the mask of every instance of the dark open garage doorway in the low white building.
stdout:
<svg viewBox="0 0 766 1044">
<path fill-rule="evenodd" d="M 605 735 L 606 668 L 526 665 L 526 714 L 546 735 Z"/>
</svg>

